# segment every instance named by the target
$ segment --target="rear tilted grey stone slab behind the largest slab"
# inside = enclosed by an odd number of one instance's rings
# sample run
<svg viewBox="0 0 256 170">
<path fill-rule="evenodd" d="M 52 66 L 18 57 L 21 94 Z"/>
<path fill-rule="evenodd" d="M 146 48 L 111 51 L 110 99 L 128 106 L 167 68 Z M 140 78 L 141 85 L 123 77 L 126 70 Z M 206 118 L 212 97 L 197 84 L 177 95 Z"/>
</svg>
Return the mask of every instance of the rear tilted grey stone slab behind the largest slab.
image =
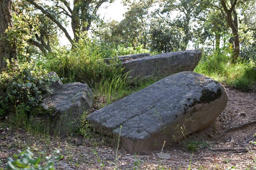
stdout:
<svg viewBox="0 0 256 170">
<path fill-rule="evenodd" d="M 123 62 L 124 72 L 137 80 L 163 78 L 181 71 L 193 71 L 201 59 L 200 50 L 188 50 L 143 57 Z"/>
</svg>

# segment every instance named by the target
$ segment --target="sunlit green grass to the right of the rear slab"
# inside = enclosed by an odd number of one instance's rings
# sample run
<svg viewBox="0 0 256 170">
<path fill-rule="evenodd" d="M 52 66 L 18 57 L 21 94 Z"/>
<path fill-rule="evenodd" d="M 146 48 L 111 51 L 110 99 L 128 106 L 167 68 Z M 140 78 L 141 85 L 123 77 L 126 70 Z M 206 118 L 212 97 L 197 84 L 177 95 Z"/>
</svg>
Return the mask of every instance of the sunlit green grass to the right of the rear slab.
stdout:
<svg viewBox="0 0 256 170">
<path fill-rule="evenodd" d="M 195 68 L 195 72 L 212 77 L 229 87 L 240 90 L 254 90 L 256 87 L 256 62 L 253 60 L 238 60 L 229 64 L 228 53 L 203 54 Z"/>
</svg>

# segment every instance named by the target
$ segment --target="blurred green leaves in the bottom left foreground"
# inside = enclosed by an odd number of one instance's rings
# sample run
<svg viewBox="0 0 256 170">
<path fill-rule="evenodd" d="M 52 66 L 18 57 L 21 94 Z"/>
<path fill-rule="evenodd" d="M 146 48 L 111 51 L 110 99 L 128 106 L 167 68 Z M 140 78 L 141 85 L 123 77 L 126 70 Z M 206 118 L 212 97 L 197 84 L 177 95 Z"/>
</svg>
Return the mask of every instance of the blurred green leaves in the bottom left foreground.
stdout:
<svg viewBox="0 0 256 170">
<path fill-rule="evenodd" d="M 53 154 L 57 156 L 46 156 L 46 161 L 43 165 L 40 165 L 42 158 L 40 156 L 34 158 L 34 154 L 28 148 L 18 155 L 13 155 L 15 160 L 8 158 L 6 170 L 54 170 L 53 159 L 60 160 L 63 155 L 60 155 L 59 150 L 55 150 Z"/>
</svg>

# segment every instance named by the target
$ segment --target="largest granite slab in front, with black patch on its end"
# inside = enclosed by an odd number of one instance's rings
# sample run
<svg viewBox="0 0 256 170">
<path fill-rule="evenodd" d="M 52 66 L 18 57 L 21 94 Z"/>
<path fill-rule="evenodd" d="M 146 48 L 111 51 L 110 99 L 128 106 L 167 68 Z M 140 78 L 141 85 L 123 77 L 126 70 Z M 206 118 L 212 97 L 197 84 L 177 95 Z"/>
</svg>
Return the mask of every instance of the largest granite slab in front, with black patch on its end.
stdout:
<svg viewBox="0 0 256 170">
<path fill-rule="evenodd" d="M 225 109 L 226 89 L 204 75 L 173 74 L 88 116 L 121 149 L 149 153 L 210 125 Z"/>
</svg>

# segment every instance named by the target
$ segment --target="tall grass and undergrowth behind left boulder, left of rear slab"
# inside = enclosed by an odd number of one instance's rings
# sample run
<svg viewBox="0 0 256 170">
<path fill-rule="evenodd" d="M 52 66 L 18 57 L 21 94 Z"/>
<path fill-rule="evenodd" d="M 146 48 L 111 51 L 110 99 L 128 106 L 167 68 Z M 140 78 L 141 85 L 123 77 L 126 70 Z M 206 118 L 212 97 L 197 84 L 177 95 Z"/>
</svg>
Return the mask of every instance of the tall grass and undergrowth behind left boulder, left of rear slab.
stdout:
<svg viewBox="0 0 256 170">
<path fill-rule="evenodd" d="M 87 83 L 95 96 L 104 96 L 108 101 L 127 96 L 133 92 L 129 85 L 129 73 L 124 74 L 121 62 L 113 60 L 106 65 L 105 57 L 115 57 L 126 54 L 147 53 L 146 49 L 138 46 L 108 49 L 96 40 L 83 35 L 79 42 L 72 46 L 55 48 L 54 52 L 38 60 L 48 71 L 55 71 L 63 83 Z"/>
</svg>

